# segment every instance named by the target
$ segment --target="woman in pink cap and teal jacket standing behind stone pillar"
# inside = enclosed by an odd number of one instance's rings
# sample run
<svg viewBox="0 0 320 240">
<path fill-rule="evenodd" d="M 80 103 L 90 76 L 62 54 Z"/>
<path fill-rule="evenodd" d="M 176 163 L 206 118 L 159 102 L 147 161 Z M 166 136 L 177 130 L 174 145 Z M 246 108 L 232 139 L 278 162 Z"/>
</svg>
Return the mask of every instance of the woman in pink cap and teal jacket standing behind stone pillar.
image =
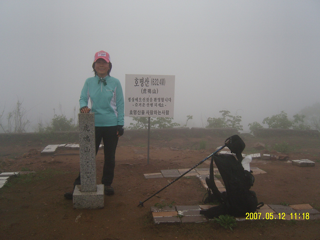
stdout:
<svg viewBox="0 0 320 240">
<path fill-rule="evenodd" d="M 101 140 L 104 145 L 104 166 L 101 183 L 106 195 L 113 195 L 115 154 L 118 138 L 124 133 L 124 96 L 120 81 L 110 76 L 112 64 L 108 52 L 96 52 L 92 64 L 94 77 L 88 78 L 80 95 L 80 112 L 94 112 L 96 154 Z M 90 99 L 91 109 L 87 106 Z M 80 173 L 74 186 L 80 183 Z M 72 192 L 65 198 L 72 199 Z"/>
</svg>

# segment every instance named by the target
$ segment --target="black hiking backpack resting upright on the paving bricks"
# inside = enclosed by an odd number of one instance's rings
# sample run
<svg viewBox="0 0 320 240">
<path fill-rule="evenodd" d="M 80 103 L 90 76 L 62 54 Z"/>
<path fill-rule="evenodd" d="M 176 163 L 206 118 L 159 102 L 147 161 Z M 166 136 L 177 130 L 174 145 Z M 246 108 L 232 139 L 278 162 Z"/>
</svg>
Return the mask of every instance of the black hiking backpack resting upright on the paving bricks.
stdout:
<svg viewBox="0 0 320 240">
<path fill-rule="evenodd" d="M 242 157 L 241 157 L 242 160 Z M 214 182 L 213 161 L 216 164 L 226 191 L 220 192 Z M 258 203 L 258 198 L 250 188 L 253 186 L 254 177 L 251 172 L 244 170 L 241 161 L 231 154 L 213 155 L 210 163 L 210 176 L 206 178 L 208 197 L 204 203 L 218 200 L 220 205 L 201 210 L 200 214 L 212 219 L 220 215 L 245 216 L 246 213 L 255 212 L 263 206 Z"/>
</svg>

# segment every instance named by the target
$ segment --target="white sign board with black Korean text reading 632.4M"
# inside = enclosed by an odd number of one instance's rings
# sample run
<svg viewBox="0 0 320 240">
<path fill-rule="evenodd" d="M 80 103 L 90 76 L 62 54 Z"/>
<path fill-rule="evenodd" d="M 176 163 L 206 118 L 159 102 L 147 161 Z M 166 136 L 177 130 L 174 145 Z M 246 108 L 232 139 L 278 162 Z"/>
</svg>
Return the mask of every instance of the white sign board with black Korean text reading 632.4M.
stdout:
<svg viewBox="0 0 320 240">
<path fill-rule="evenodd" d="M 173 117 L 172 75 L 125 75 L 125 110 L 129 117 Z"/>
</svg>

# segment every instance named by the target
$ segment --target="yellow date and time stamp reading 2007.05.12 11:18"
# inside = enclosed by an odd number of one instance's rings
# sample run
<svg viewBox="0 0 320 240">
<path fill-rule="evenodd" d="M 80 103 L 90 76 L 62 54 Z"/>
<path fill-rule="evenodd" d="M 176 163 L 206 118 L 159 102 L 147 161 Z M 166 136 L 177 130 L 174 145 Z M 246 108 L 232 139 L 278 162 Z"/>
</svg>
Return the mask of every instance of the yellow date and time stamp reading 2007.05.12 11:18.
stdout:
<svg viewBox="0 0 320 240">
<path fill-rule="evenodd" d="M 291 217 L 291 220 L 308 220 L 310 217 L 310 214 L 308 212 L 303 212 L 303 213 L 290 213 L 287 214 Z M 258 220 L 258 219 L 287 219 L 285 218 L 286 214 L 284 212 L 280 213 L 273 213 L 273 212 L 266 212 L 266 213 L 261 213 L 261 212 L 247 212 L 245 214 L 245 219 L 249 220 Z M 289 218 L 290 219 L 290 218 Z"/>
</svg>

